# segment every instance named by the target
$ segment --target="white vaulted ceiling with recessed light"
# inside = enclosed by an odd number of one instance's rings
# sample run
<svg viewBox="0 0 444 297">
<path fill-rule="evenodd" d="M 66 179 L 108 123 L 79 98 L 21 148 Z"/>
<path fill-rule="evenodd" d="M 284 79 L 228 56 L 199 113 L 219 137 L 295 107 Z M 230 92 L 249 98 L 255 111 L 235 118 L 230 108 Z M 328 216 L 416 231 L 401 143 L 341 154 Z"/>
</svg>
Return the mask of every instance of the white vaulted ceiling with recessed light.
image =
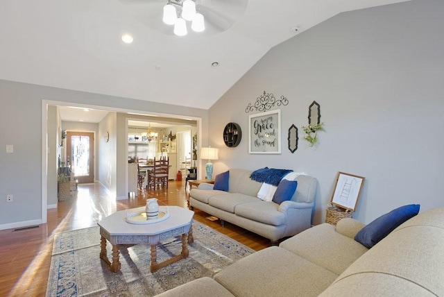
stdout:
<svg viewBox="0 0 444 297">
<path fill-rule="evenodd" d="M 1 0 L 0 79 L 207 109 L 276 44 L 402 1 L 196 0 L 207 30 L 178 37 L 167 0 Z"/>
</svg>

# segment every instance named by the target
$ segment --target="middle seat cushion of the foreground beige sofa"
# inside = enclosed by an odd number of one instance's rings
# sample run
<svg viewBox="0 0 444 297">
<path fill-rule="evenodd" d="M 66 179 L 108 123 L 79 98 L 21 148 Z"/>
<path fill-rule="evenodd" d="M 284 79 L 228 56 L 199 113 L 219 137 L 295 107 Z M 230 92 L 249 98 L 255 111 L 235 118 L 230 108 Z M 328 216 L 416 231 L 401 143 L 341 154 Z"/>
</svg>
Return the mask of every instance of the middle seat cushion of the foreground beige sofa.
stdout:
<svg viewBox="0 0 444 297">
<path fill-rule="evenodd" d="M 334 273 L 272 246 L 248 255 L 214 275 L 235 296 L 318 296 Z M 207 295 L 210 296 L 210 295 Z"/>
</svg>

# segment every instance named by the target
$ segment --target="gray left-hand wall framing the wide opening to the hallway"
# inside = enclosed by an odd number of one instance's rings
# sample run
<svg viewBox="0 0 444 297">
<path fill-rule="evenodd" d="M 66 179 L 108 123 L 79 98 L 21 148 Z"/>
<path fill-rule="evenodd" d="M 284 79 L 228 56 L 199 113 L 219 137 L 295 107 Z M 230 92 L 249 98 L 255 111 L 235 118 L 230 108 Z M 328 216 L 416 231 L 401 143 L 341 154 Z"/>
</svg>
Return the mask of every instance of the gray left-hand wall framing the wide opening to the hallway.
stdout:
<svg viewBox="0 0 444 297">
<path fill-rule="evenodd" d="M 0 230 L 42 222 L 42 100 L 200 117 L 208 125 L 207 110 L 198 108 L 0 80 Z M 8 144 L 14 153 L 6 153 Z M 32 173 L 26 183 L 24 172 Z M 12 203 L 6 203 L 7 194 L 14 195 Z"/>
</svg>

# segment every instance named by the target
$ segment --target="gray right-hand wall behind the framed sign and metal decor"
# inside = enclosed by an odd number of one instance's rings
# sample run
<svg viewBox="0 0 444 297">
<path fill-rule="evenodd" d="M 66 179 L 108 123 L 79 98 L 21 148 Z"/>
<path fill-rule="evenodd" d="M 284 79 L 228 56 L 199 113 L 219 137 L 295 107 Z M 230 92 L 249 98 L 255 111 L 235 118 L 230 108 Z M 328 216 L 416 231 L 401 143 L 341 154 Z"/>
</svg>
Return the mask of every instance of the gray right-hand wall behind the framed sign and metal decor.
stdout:
<svg viewBox="0 0 444 297">
<path fill-rule="evenodd" d="M 315 224 L 325 221 L 338 171 L 366 178 L 354 215 L 366 223 L 408 203 L 442 206 L 443 28 L 444 1 L 409 1 L 342 13 L 275 46 L 210 109 L 210 144 L 221 148 L 214 170 L 268 166 L 318 178 Z M 280 155 L 248 154 L 245 109 L 264 90 L 289 99 Z M 310 148 L 300 127 L 314 100 L 326 131 Z M 230 121 L 243 130 L 237 148 L 223 144 Z"/>
</svg>

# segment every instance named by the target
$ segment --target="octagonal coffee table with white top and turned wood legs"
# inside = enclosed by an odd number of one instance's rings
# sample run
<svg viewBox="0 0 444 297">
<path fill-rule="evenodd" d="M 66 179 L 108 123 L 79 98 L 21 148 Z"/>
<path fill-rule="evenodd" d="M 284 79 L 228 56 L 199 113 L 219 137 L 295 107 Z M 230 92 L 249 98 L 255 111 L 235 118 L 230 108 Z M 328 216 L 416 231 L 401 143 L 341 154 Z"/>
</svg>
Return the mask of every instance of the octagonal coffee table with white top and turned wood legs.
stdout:
<svg viewBox="0 0 444 297">
<path fill-rule="evenodd" d="M 132 212 L 143 211 L 145 207 L 133 208 Z M 117 272 L 121 269 L 119 262 L 119 245 L 149 244 L 151 245 L 151 272 L 188 257 L 188 244 L 194 242 L 193 222 L 194 212 L 178 206 L 168 206 L 169 218 L 157 223 L 137 225 L 126 221 L 126 210 L 114 212 L 97 223 L 100 227 L 101 252 L 100 257 L 110 270 Z M 160 207 L 162 211 L 162 206 Z M 169 260 L 157 263 L 157 244 L 167 238 L 182 235 L 182 253 Z M 112 244 L 112 262 L 106 255 L 106 241 Z"/>
</svg>

